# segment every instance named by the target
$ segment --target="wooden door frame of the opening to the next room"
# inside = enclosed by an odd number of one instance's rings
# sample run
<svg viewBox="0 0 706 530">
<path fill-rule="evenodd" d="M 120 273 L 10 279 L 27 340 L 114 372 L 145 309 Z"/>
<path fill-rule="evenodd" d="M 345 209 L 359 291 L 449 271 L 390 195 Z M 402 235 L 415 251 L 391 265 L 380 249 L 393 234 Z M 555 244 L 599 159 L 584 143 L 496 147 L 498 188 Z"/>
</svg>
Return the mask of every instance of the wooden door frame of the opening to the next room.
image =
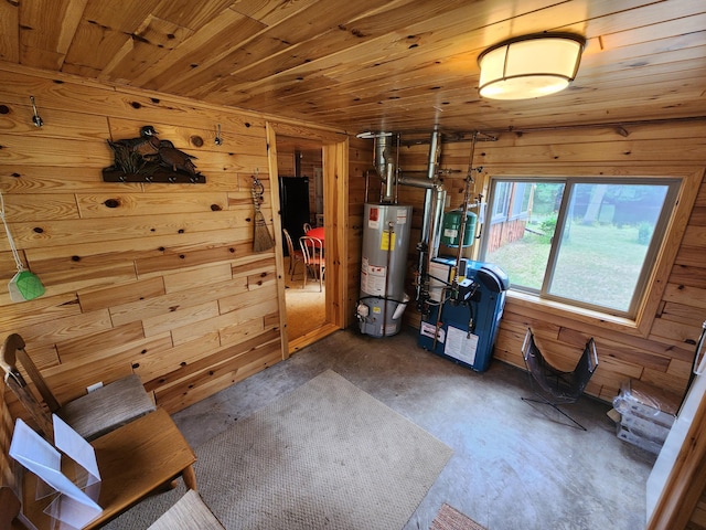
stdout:
<svg viewBox="0 0 706 530">
<path fill-rule="evenodd" d="M 277 296 L 281 330 L 282 354 L 288 358 L 299 349 L 345 327 L 345 293 L 347 293 L 349 219 L 349 137 L 343 132 L 267 121 L 267 158 L 272 203 Z M 282 252 L 281 208 L 279 203 L 279 172 L 277 167 L 277 135 L 321 141 L 323 166 L 323 219 L 327 233 L 325 324 L 302 337 L 289 341 L 287 304 L 285 298 L 285 255 Z"/>
</svg>

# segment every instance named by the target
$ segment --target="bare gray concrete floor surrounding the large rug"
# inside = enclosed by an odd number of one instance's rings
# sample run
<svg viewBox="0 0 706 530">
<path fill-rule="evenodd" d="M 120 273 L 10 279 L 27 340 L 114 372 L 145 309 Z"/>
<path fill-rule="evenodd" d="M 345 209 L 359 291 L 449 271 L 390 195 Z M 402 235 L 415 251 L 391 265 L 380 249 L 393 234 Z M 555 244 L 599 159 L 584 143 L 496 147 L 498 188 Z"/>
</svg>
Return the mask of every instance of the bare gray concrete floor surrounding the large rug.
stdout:
<svg viewBox="0 0 706 530">
<path fill-rule="evenodd" d="M 419 348 L 411 329 L 385 339 L 339 331 L 174 421 L 197 447 L 327 369 L 454 449 L 405 530 L 428 529 L 442 502 L 489 530 L 645 526 L 655 457 L 616 437 L 609 404 L 582 398 L 567 410 L 588 432 L 561 425 L 520 399 L 531 395 L 523 371 L 494 361 L 473 372 Z"/>
</svg>

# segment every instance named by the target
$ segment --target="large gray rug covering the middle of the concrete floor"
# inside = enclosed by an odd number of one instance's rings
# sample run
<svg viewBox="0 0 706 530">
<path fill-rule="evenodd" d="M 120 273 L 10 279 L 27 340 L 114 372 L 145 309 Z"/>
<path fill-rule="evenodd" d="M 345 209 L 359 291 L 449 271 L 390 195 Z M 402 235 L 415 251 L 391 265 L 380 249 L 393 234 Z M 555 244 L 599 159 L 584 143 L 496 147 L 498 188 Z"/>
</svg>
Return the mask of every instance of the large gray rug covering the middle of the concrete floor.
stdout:
<svg viewBox="0 0 706 530">
<path fill-rule="evenodd" d="M 452 449 L 327 371 L 196 449 L 199 491 L 227 529 L 391 530 L 407 522 Z M 109 529 L 147 528 L 183 486 Z"/>
</svg>

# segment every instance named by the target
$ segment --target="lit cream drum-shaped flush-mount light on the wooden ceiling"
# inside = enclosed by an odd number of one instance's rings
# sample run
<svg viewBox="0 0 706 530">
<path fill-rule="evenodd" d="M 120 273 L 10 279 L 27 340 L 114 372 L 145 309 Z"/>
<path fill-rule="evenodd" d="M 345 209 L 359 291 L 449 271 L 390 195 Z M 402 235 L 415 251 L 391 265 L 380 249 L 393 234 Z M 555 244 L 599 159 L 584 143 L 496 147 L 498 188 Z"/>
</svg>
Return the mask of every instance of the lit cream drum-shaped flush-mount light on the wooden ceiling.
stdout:
<svg viewBox="0 0 706 530">
<path fill-rule="evenodd" d="M 566 88 L 576 77 L 586 40 L 566 33 L 510 39 L 478 57 L 479 92 L 491 99 L 531 99 Z"/>
</svg>

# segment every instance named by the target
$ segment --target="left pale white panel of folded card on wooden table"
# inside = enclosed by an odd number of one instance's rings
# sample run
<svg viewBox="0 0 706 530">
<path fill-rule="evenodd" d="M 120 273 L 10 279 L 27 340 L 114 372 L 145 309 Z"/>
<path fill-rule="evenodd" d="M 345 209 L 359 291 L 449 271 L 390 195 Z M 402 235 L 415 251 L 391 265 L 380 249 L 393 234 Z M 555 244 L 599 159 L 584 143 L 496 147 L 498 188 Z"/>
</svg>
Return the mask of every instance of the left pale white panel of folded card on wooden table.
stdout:
<svg viewBox="0 0 706 530">
<path fill-rule="evenodd" d="M 103 509 L 61 470 L 61 453 L 21 418 L 14 424 L 10 456 L 56 490 L 60 496 L 45 510 L 75 528 L 83 528 Z"/>
</svg>

